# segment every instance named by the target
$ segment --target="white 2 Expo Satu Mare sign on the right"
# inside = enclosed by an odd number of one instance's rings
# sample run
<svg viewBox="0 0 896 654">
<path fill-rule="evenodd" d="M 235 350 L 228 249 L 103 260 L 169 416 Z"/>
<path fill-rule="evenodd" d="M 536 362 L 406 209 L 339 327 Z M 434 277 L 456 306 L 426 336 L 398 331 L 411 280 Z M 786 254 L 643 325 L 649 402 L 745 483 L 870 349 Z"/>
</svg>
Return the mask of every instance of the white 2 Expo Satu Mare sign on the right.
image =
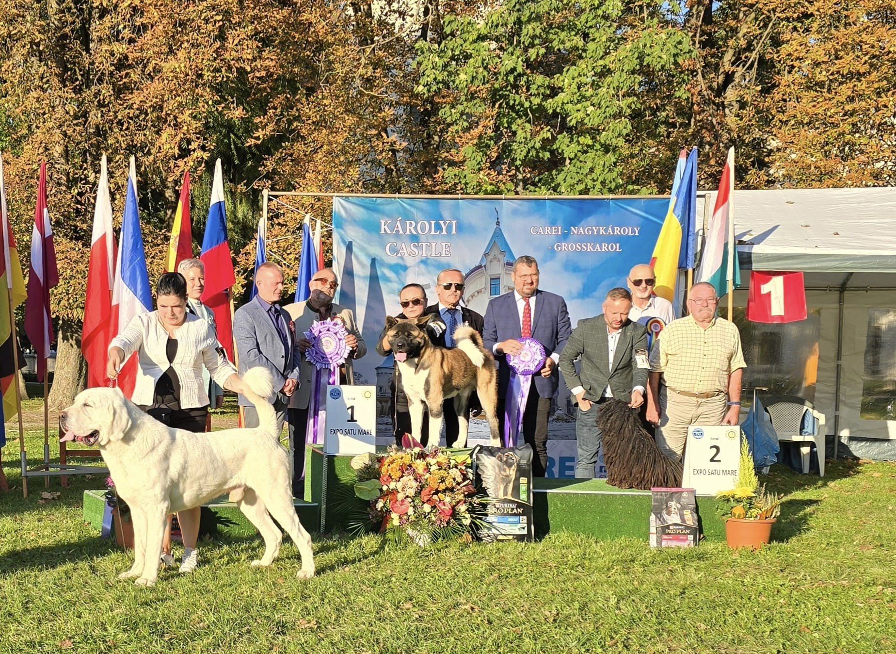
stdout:
<svg viewBox="0 0 896 654">
<path fill-rule="evenodd" d="M 698 495 L 715 495 L 737 486 L 740 469 L 740 427 L 687 428 L 683 488 Z"/>
</svg>

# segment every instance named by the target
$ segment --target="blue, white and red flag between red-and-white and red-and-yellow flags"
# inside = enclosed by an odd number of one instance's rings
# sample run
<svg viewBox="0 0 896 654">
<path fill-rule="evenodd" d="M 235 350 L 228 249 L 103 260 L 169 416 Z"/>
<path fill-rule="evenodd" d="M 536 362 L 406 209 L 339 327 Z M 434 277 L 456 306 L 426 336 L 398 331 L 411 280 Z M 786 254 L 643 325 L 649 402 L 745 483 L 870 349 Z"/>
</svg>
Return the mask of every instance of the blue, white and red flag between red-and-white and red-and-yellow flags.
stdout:
<svg viewBox="0 0 896 654">
<path fill-rule="evenodd" d="M 152 310 L 150 275 L 146 270 L 146 253 L 140 232 L 140 213 L 137 207 L 137 166 L 131 157 L 131 171 L 127 178 L 125 218 L 121 222 L 121 247 L 115 266 L 112 288 L 111 336 L 117 336 L 134 316 Z M 137 357 L 132 355 L 118 371 L 118 388 L 125 397 L 134 394 L 137 379 Z"/>
</svg>

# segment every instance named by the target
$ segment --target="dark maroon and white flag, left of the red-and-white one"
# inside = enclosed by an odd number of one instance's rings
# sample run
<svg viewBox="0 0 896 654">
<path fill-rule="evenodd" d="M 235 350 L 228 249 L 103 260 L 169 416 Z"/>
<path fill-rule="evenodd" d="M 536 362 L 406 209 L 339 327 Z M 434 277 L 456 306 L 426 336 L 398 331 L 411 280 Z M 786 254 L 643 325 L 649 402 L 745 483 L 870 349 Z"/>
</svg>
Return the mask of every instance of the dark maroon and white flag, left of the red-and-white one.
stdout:
<svg viewBox="0 0 896 654">
<path fill-rule="evenodd" d="M 40 164 L 38 202 L 34 206 L 31 230 L 31 264 L 28 274 L 28 298 L 25 300 L 25 333 L 38 355 L 38 380 L 47 374 L 50 344 L 56 340 L 50 313 L 50 289 L 59 283 L 56 249 L 47 210 L 47 162 Z"/>
</svg>

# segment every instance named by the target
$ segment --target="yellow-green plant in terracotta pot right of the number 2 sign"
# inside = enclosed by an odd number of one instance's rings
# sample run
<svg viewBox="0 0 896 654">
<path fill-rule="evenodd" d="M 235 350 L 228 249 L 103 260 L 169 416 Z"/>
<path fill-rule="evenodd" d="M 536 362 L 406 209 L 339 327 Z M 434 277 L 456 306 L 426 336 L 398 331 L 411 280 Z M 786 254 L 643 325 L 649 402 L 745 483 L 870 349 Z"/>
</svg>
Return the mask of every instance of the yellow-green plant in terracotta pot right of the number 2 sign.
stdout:
<svg viewBox="0 0 896 654">
<path fill-rule="evenodd" d="M 717 493 L 721 500 L 719 510 L 725 519 L 725 537 L 728 547 L 752 547 L 758 550 L 771 540 L 771 526 L 780 515 L 778 493 L 765 490 L 759 484 L 753 455 L 746 440 L 740 446 L 740 472 L 737 486 L 730 491 Z"/>
</svg>

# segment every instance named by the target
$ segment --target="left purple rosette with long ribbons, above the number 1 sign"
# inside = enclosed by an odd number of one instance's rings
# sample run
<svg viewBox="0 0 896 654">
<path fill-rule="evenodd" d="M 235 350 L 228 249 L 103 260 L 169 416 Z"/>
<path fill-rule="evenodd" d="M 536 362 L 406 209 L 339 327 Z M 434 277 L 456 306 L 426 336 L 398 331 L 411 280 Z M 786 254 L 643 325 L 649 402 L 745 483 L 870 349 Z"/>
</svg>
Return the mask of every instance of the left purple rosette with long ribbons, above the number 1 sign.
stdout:
<svg viewBox="0 0 896 654">
<path fill-rule="evenodd" d="M 314 364 L 306 429 L 306 442 L 312 445 L 323 443 L 327 384 L 339 383 L 339 367 L 349 358 L 349 344 L 346 343 L 348 336 L 349 332 L 339 318 L 315 322 L 305 333 L 305 337 L 311 341 L 311 346 L 305 351 L 305 358 Z"/>
</svg>

